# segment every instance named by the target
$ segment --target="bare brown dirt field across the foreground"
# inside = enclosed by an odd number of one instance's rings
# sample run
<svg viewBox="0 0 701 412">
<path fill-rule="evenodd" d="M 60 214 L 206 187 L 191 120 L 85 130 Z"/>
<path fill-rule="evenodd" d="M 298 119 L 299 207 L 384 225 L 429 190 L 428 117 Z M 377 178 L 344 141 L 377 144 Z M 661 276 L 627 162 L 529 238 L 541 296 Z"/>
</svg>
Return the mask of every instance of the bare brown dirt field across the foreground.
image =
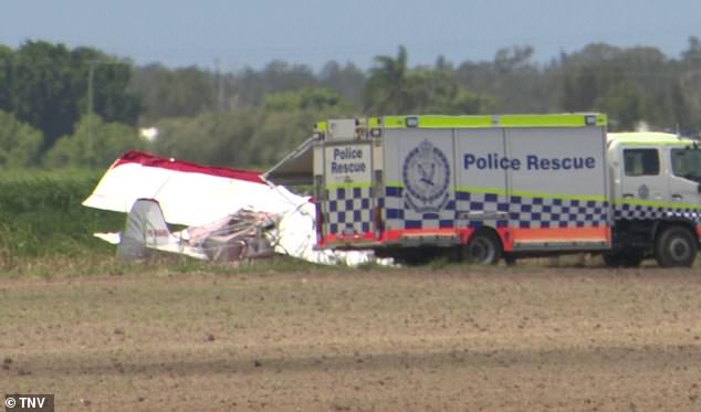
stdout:
<svg viewBox="0 0 701 412">
<path fill-rule="evenodd" d="M 0 281 L 0 388 L 56 411 L 699 411 L 701 273 Z"/>
</svg>

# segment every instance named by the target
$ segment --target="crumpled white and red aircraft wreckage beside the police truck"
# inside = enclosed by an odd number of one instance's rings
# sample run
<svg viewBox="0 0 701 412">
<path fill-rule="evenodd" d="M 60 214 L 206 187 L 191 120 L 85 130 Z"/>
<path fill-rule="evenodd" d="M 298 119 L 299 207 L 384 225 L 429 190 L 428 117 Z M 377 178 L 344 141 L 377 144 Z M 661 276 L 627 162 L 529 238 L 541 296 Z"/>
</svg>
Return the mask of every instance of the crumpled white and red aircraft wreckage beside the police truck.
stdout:
<svg viewBox="0 0 701 412">
<path fill-rule="evenodd" d="M 83 205 L 128 213 L 124 231 L 95 233 L 117 244 L 117 256 L 124 260 L 157 250 L 224 262 L 273 254 L 321 264 L 375 261 L 372 251 L 316 250 L 311 198 L 257 171 L 128 151 L 107 169 Z M 186 229 L 171 231 L 172 225 Z"/>
</svg>

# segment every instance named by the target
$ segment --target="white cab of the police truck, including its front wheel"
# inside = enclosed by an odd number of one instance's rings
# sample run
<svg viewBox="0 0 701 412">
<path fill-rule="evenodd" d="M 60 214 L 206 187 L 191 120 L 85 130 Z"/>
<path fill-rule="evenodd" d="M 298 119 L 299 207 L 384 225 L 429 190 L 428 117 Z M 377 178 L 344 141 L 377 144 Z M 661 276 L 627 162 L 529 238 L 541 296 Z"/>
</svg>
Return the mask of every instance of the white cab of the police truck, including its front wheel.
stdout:
<svg viewBox="0 0 701 412">
<path fill-rule="evenodd" d="M 688 266 L 701 234 L 701 150 L 665 133 L 611 133 L 607 159 L 613 201 L 610 265 Z"/>
</svg>

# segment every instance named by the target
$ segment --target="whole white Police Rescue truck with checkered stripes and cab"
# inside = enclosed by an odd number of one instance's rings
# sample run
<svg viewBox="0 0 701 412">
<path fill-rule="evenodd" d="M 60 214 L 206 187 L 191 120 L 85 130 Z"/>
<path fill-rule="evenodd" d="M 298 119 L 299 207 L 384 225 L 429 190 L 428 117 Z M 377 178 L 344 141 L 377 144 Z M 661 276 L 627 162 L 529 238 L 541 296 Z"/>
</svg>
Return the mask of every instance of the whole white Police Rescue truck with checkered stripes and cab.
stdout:
<svg viewBox="0 0 701 412">
<path fill-rule="evenodd" d="M 690 266 L 701 150 L 661 133 L 607 134 L 603 114 L 385 116 L 316 125 L 320 247 L 420 256 L 600 253 Z"/>
</svg>

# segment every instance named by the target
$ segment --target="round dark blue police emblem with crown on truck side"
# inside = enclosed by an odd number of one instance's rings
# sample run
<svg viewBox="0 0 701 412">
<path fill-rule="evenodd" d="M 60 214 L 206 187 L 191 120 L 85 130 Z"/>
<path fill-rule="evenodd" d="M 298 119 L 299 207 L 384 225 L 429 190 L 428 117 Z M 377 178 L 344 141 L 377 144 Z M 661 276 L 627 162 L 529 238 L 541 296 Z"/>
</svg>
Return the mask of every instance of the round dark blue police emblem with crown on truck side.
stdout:
<svg viewBox="0 0 701 412">
<path fill-rule="evenodd" d="M 448 203 L 450 163 L 446 155 L 423 140 L 404 160 L 405 200 L 417 212 L 438 212 Z"/>
</svg>

